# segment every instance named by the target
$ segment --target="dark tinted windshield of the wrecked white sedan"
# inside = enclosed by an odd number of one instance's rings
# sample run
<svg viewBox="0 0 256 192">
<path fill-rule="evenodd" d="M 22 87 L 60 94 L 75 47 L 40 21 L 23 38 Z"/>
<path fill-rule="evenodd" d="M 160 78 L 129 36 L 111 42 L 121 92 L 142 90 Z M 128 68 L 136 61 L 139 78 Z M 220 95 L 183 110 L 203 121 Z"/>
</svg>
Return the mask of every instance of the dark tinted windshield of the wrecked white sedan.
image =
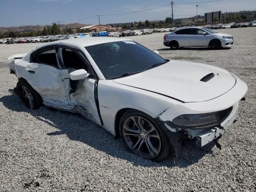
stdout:
<svg viewBox="0 0 256 192">
<path fill-rule="evenodd" d="M 117 41 L 85 47 L 106 79 L 135 73 L 167 61 L 134 41 Z"/>
</svg>

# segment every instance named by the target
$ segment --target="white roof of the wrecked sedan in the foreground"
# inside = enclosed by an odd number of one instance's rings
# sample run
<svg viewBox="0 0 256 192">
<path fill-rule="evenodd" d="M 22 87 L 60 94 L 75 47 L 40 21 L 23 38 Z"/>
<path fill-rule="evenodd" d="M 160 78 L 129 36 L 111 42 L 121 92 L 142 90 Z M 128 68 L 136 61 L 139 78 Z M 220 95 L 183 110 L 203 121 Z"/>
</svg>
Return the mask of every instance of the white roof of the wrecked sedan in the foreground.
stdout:
<svg viewBox="0 0 256 192">
<path fill-rule="evenodd" d="M 116 42 L 116 41 L 132 41 L 128 38 L 120 38 L 120 37 L 90 37 L 90 38 L 74 38 L 74 39 L 65 39 L 65 40 L 59 40 L 54 42 L 46 43 L 42 46 L 38 46 L 38 48 L 43 48 L 44 46 L 49 45 L 66 45 L 66 46 L 75 46 L 75 47 L 86 47 L 91 45 L 97 45 L 102 43 L 110 43 L 110 42 Z"/>
</svg>

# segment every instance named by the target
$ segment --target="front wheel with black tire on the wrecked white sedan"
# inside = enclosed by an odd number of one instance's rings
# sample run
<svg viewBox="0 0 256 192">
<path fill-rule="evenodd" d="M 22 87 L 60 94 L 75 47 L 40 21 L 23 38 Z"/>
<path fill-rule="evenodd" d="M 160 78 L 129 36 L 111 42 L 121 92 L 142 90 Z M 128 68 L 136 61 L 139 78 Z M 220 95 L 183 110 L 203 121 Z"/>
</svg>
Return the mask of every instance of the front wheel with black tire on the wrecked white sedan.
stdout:
<svg viewBox="0 0 256 192">
<path fill-rule="evenodd" d="M 160 162 L 172 152 L 170 141 L 156 120 L 138 110 L 123 114 L 119 131 L 128 151 L 142 158 Z"/>
</svg>

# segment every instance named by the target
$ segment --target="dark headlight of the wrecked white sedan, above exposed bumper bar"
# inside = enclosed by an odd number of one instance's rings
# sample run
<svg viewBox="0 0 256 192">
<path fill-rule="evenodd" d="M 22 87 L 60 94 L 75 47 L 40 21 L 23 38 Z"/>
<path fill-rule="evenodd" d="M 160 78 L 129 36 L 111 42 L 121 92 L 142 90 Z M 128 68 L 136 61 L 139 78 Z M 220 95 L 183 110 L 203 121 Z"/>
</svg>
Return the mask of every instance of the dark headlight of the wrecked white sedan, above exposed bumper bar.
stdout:
<svg viewBox="0 0 256 192">
<path fill-rule="evenodd" d="M 195 114 L 195 115 L 181 115 L 172 120 L 172 124 L 176 127 L 202 127 L 219 122 L 218 112 Z"/>
</svg>

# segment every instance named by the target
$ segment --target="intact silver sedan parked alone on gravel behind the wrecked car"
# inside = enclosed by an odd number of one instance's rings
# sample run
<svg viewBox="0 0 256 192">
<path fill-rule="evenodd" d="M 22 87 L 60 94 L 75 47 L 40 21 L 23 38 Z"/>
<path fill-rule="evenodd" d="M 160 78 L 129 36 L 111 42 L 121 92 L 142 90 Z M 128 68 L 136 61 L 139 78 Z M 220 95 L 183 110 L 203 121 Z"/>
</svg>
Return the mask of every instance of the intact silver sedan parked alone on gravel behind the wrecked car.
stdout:
<svg viewBox="0 0 256 192">
<path fill-rule="evenodd" d="M 232 46 L 234 38 L 230 34 L 217 33 L 205 27 L 190 27 L 164 35 L 164 45 L 171 49 L 179 47 L 209 47 L 219 49 Z"/>
</svg>

